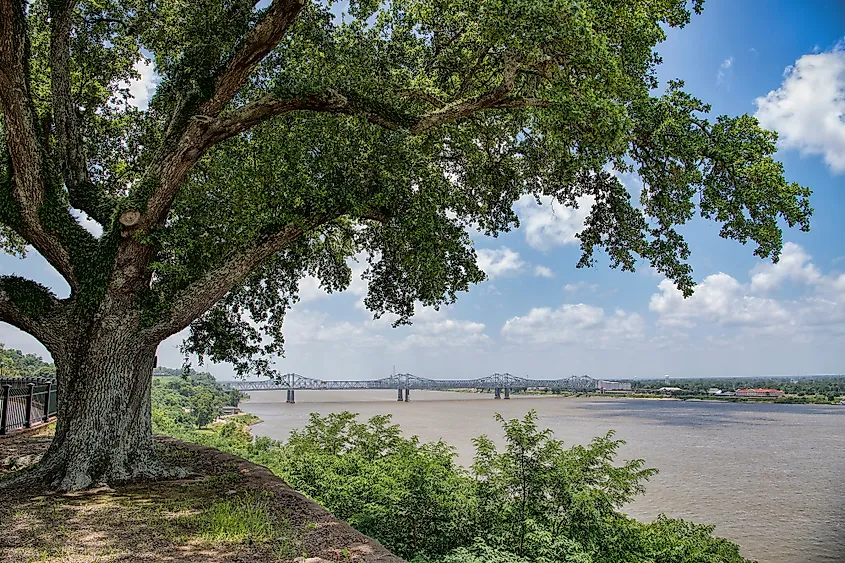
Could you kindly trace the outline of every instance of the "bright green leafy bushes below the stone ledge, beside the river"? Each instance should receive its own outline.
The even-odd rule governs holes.
[[[469,469],[389,416],[312,414],[286,443],[252,440],[235,422],[182,437],[270,468],[413,563],[748,563],[712,526],[619,512],[656,470],[617,463],[612,432],[567,448],[533,411],[498,420],[504,448],[477,438]]]

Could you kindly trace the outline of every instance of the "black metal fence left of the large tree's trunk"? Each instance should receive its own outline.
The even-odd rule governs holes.
[[[55,414],[54,379],[0,379],[0,434],[32,428]]]

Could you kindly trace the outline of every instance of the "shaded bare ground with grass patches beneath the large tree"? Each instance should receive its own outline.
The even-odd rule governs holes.
[[[49,429],[0,438],[0,474],[35,463],[50,439]],[[0,491],[0,563],[403,563],[264,467],[171,438],[157,447],[192,476]]]

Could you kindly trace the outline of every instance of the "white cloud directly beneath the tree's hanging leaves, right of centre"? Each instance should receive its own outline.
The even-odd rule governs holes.
[[[528,244],[539,250],[577,244],[575,235],[584,228],[584,220],[590,213],[595,198],[578,198],[578,209],[561,205],[550,196],[543,196],[540,201],[542,205],[537,205],[534,196],[524,195],[515,205],[521,223],[520,230],[525,233]]]

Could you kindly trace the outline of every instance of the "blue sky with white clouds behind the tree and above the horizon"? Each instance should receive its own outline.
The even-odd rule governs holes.
[[[552,216],[522,201],[522,228],[474,237],[491,279],[454,306],[420,311],[411,327],[374,322],[360,279],[332,296],[303,280],[277,369],[326,379],[380,377],[393,365],[425,377],[845,372],[845,4],[707,0],[704,14],[673,30],[659,52],[661,80],[684,79],[714,114],[756,114],[779,131],[788,177],[813,189],[811,232],[787,231],[778,265],[696,221],[684,232],[699,287],[684,301],[648,267],[623,273],[600,261],[576,270],[573,235],[586,207]],[[145,84],[135,88],[143,98]],[[636,190],[636,178],[622,180]],[[66,292],[34,255],[0,256],[0,271]],[[160,364],[180,364],[179,340],[162,344]],[[8,325],[0,324],[0,342],[46,356]],[[205,367],[231,374],[227,365]]]

